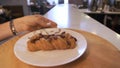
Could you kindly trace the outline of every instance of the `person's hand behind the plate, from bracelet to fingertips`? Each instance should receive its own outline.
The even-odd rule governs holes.
[[[17,32],[33,31],[41,28],[54,28],[57,24],[41,15],[29,15],[14,19]]]

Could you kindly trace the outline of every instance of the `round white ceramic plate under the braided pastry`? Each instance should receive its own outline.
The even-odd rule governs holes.
[[[44,29],[49,34],[58,31],[58,28],[49,28]],[[44,30],[37,30],[35,33],[45,33]],[[14,46],[15,56],[23,61],[24,63],[34,65],[34,66],[58,66],[63,65],[69,62],[72,62],[79,58],[87,48],[87,42],[83,35],[72,30],[61,29],[70,33],[77,39],[77,47],[74,49],[67,50],[52,50],[52,51],[37,51],[30,52],[27,49],[28,38],[34,35],[34,32],[31,32],[23,37],[21,37]]]

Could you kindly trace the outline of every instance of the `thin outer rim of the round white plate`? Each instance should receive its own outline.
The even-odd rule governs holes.
[[[73,30],[70,30],[70,29],[64,29],[64,28],[46,28],[46,29],[61,29],[61,30],[63,30],[63,31],[72,31],[72,32],[76,32],[76,31],[73,31]],[[40,29],[40,30],[42,30],[42,29]],[[33,33],[34,31],[32,31],[32,32],[30,32],[30,33]],[[30,34],[30,33],[28,33],[28,34]],[[76,32],[76,33],[78,33],[78,32]],[[26,35],[24,35],[24,36],[22,36],[21,38],[24,38],[25,36],[27,36],[28,34],[26,34]],[[86,38],[81,34],[81,33],[79,33],[83,38],[84,38],[84,41],[86,42],[85,44],[85,48],[84,48],[84,51],[82,51],[82,53],[81,54],[79,54],[77,57],[75,57],[74,59],[72,59],[72,60],[70,60],[70,61],[67,61],[67,62],[64,62],[64,63],[61,63],[61,64],[55,64],[55,65],[38,65],[38,64],[32,64],[32,63],[29,63],[29,62],[27,62],[27,61],[24,61],[23,59],[21,59],[18,55],[17,55],[17,53],[16,53],[16,51],[15,51],[15,46],[16,46],[16,43],[21,39],[21,38],[19,38],[17,41],[16,41],[16,43],[14,44],[14,54],[15,54],[15,56],[20,60],[20,61],[22,61],[22,62],[24,62],[24,63],[26,63],[26,64],[29,64],[29,65],[33,65],[33,66],[41,66],[41,67],[53,67],[53,66],[59,66],[59,65],[64,65],[64,64],[67,64],[67,63],[70,63],[70,62],[72,62],[72,61],[75,61],[76,59],[78,59],[79,57],[81,57],[84,53],[85,53],[85,51],[86,51],[86,49],[87,49],[87,40],[86,40]]]

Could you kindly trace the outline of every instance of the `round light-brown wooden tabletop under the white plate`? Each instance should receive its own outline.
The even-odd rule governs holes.
[[[86,38],[86,52],[71,63],[49,68],[120,68],[120,51],[110,42],[85,31],[74,31]],[[20,37],[16,36],[0,45],[0,68],[44,68],[25,64],[16,58],[13,48]]]

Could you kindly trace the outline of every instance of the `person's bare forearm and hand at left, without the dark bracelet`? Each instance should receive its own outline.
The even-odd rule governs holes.
[[[29,15],[13,20],[14,27],[16,31],[33,31],[41,28],[52,28],[57,27],[57,24],[51,20],[44,18],[41,15]],[[13,36],[10,29],[10,22],[0,24],[0,40]]]

